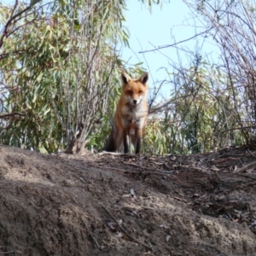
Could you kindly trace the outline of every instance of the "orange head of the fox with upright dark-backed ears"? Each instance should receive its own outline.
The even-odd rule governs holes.
[[[122,96],[131,106],[137,106],[143,100],[147,100],[148,96],[148,73],[145,72],[139,79],[131,79],[127,73],[121,74],[123,82]]]

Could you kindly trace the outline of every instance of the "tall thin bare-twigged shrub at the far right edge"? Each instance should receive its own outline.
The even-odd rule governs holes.
[[[202,35],[221,52],[219,67],[229,78],[236,123],[246,143],[256,140],[255,0],[183,0],[200,22]],[[239,92],[239,95],[236,95]]]

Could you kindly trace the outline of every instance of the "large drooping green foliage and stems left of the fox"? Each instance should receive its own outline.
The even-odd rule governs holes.
[[[79,152],[98,129],[127,41],[123,1],[59,1],[0,6],[1,141]],[[26,10],[22,13],[22,10]],[[21,15],[19,15],[21,13]]]

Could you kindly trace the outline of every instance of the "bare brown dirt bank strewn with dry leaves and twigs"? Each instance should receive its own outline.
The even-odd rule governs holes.
[[[0,254],[255,255],[256,148],[48,155],[0,146]]]

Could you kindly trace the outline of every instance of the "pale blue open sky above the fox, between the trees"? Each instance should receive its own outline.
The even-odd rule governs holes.
[[[165,1],[163,1],[165,2]],[[166,1],[167,2],[167,1]],[[189,54],[169,47],[160,51],[139,53],[154,49],[162,45],[173,44],[191,38],[202,29],[195,30],[195,19],[191,11],[181,0],[170,0],[171,3],[163,3],[162,6],[154,4],[149,12],[147,6],[138,0],[127,0],[125,11],[125,26],[130,32],[130,49],[123,47],[122,58],[129,63],[135,64],[143,61],[143,67],[149,72],[151,85],[158,84],[158,81],[167,79],[166,69],[172,72],[172,63],[182,61],[183,65],[189,65]],[[209,39],[207,39],[209,40]],[[201,54],[207,54],[209,58],[218,58],[218,49],[211,41],[199,38],[189,40],[186,43],[178,44],[183,49],[193,50],[202,46]],[[171,84],[166,84],[162,90],[162,96],[169,96]]]

